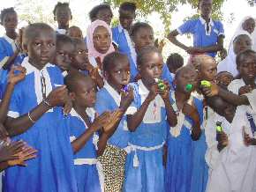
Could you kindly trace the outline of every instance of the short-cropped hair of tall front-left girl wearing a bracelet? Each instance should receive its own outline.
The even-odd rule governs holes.
[[[56,34],[53,28],[45,23],[34,23],[34,24],[30,24],[29,26],[26,26],[25,28],[26,43],[28,40],[31,40],[37,37],[39,33],[41,33],[41,31],[47,31],[47,30],[49,30],[49,32]]]

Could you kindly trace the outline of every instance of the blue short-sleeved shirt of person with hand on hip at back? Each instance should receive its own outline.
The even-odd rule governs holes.
[[[204,18],[190,19],[182,26],[177,28],[177,32],[180,34],[192,33],[193,35],[193,47],[203,48],[207,46],[213,46],[217,43],[219,36],[224,36],[224,29],[221,21],[216,21],[211,18],[208,24],[207,31],[207,22]],[[217,53],[207,53],[215,57]]]

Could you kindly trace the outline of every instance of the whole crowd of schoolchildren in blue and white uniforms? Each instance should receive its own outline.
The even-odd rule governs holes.
[[[16,11],[1,11],[3,191],[256,191],[256,53],[237,34],[238,75],[218,73],[224,33],[212,4],[201,0],[200,18],[169,33],[191,54],[185,66],[178,54],[163,61],[152,26],[132,24],[133,3],[112,29],[109,5],[94,7],[85,38],[67,3],[53,11],[56,30],[34,23],[18,34]]]

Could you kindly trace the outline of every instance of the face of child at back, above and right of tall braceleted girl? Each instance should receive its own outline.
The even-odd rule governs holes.
[[[72,13],[67,6],[61,6],[56,9],[56,21],[59,26],[69,26],[72,19]]]

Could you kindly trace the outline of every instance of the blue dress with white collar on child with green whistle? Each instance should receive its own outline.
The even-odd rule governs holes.
[[[188,101],[194,103],[200,113],[200,100],[192,98]],[[177,111],[174,92],[171,95],[172,107]],[[169,129],[168,156],[165,170],[165,189],[168,192],[188,192],[192,181],[192,119],[180,113],[177,116],[177,126]],[[196,191],[196,190],[194,190]]]

